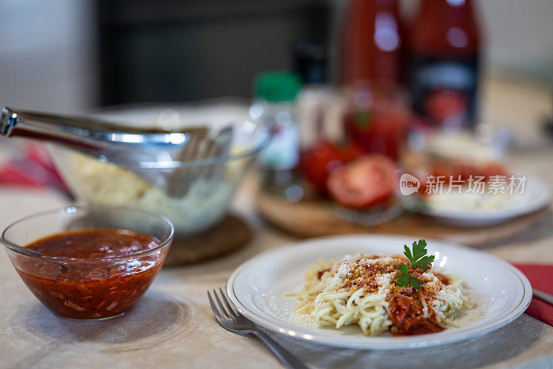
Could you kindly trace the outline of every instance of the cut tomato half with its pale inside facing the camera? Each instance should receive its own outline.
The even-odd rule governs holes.
[[[386,201],[396,186],[395,165],[383,155],[366,155],[328,177],[328,190],[346,208],[369,208]]]

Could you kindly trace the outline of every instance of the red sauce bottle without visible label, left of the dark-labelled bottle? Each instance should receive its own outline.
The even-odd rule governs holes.
[[[397,0],[352,0],[344,19],[341,80],[350,87],[389,87],[402,75]]]

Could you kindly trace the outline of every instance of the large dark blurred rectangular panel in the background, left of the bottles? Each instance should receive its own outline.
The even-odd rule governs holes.
[[[100,103],[252,94],[266,69],[292,69],[294,44],[328,38],[321,0],[98,1]]]

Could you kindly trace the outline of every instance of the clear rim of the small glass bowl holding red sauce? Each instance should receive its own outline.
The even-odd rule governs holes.
[[[12,228],[12,226],[15,226],[21,222],[25,222],[29,219],[37,218],[37,217],[43,217],[44,215],[53,215],[53,214],[64,214],[64,213],[77,213],[80,211],[86,211],[86,210],[107,210],[107,211],[122,211],[127,213],[142,213],[143,215],[149,215],[150,217],[154,217],[158,220],[161,220],[162,222],[165,222],[171,227],[171,231],[169,233],[169,236],[167,237],[167,240],[164,240],[161,242],[158,246],[153,247],[152,249],[148,249],[145,251],[140,251],[138,253],[132,253],[129,255],[115,255],[115,256],[106,256],[106,257],[99,257],[99,258],[67,258],[65,256],[50,256],[45,255],[44,253],[39,253],[38,251],[34,251],[31,249],[27,249],[25,246],[21,246],[19,244],[16,244],[15,242],[10,242],[6,239],[6,233]],[[131,259],[137,259],[142,258],[144,256],[151,255],[153,253],[156,253],[156,251],[163,249],[165,246],[170,244],[173,241],[173,237],[175,235],[175,226],[171,221],[158,213],[154,213],[153,211],[149,210],[143,210],[140,208],[131,208],[126,206],[98,206],[98,205],[71,205],[71,206],[63,206],[61,208],[55,208],[51,210],[44,210],[39,213],[33,213],[31,215],[27,215],[26,217],[19,218],[15,220],[15,222],[10,223],[6,228],[3,230],[1,235],[1,242],[6,246],[7,249],[10,249],[11,251],[18,253],[19,255],[25,255],[32,258],[41,258],[43,260],[51,260],[56,262],[110,262],[110,261],[120,261],[120,260],[131,260]]]

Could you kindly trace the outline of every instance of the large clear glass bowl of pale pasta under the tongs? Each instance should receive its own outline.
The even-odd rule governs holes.
[[[93,157],[66,147],[50,147],[59,172],[78,201],[160,213],[171,219],[177,237],[204,231],[223,218],[238,183],[270,139],[269,127],[250,118],[245,103],[227,100],[120,107],[95,116],[133,127],[205,127],[206,139],[231,127],[229,147],[220,156],[197,159],[189,155],[191,159],[171,158],[160,161],[160,165],[138,163],[135,168],[115,165],[101,155]],[[171,193],[164,186],[156,186],[156,179],[171,187]]]

